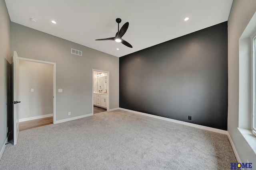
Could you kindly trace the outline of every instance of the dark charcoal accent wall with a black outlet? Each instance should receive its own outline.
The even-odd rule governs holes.
[[[119,106],[227,130],[227,38],[224,22],[120,57]]]

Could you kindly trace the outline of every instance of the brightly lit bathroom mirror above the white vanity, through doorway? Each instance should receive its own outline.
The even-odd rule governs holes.
[[[107,77],[108,77],[108,73],[106,72],[94,71],[94,81],[93,81],[94,92],[100,92],[100,93],[108,92]]]

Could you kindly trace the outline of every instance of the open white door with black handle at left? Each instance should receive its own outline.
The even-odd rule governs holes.
[[[16,51],[12,57],[12,73],[13,73],[13,145],[17,144],[19,135],[19,58]]]

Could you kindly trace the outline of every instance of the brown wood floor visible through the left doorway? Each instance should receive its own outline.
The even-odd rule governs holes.
[[[35,120],[30,120],[30,121],[23,121],[20,122],[20,131],[24,131],[27,129],[32,129],[35,127],[40,127],[44,125],[50,125],[52,124],[52,116],[51,117],[44,117],[41,119],[35,119]]]

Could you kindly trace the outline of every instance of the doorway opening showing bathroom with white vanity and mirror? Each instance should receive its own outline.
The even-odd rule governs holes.
[[[109,109],[109,72],[92,69],[92,111],[94,114]]]

